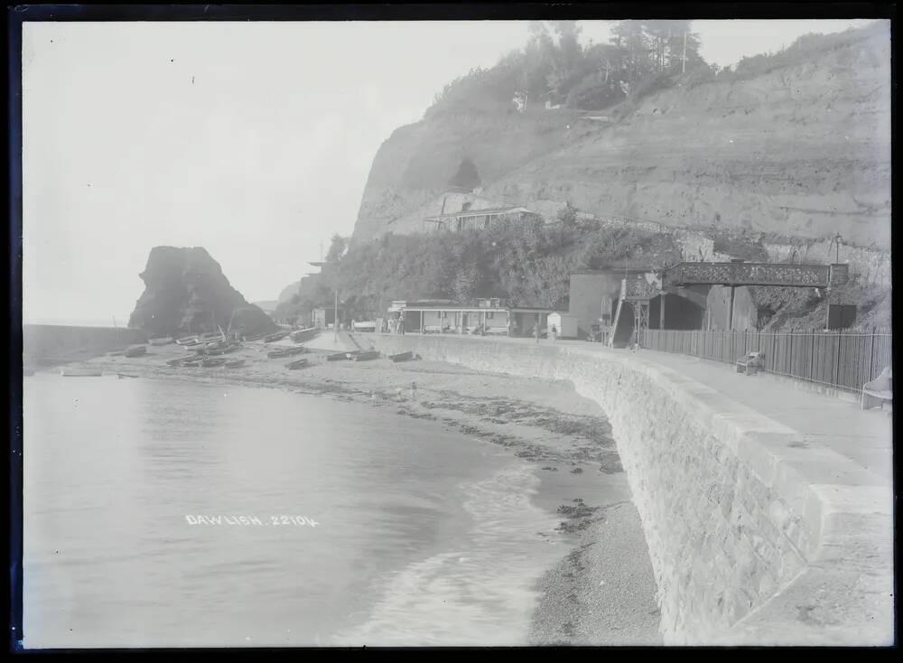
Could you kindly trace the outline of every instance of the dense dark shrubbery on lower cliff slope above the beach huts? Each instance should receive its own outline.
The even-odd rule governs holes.
[[[395,299],[467,303],[497,296],[513,304],[566,309],[573,270],[625,259],[663,266],[669,250],[675,252],[669,236],[577,219],[551,225],[507,219],[486,230],[387,235],[356,243],[339,263],[324,266],[318,288],[302,291],[298,311],[329,305],[336,289],[349,316],[358,319],[385,314]],[[290,306],[281,304],[277,314],[294,310]]]

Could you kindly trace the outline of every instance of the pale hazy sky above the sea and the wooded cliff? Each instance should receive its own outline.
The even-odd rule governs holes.
[[[696,21],[726,66],[868,21]],[[583,42],[610,23],[581,21]],[[126,323],[154,246],[205,247],[249,302],[354,228],[398,126],[527,23],[23,23],[23,321]]]

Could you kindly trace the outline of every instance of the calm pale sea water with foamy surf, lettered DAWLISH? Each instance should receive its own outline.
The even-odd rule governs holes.
[[[39,373],[23,429],[27,648],[523,644],[567,552],[534,466],[391,408]]]

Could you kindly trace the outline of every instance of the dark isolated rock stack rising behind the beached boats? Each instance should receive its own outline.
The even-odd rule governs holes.
[[[201,247],[154,247],[140,275],[144,294],[128,326],[150,335],[226,330],[257,333],[276,325],[228,283],[219,263]]]

